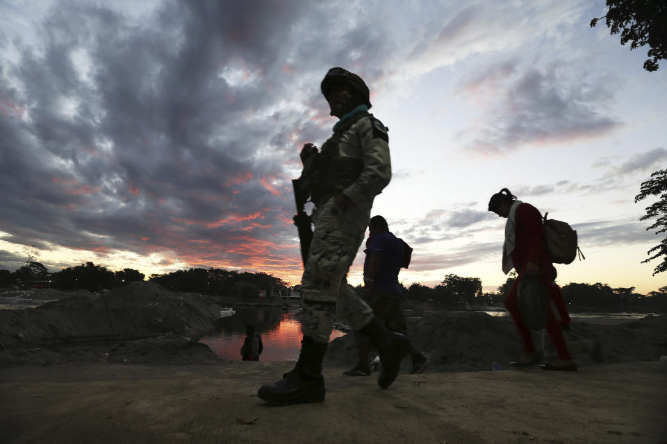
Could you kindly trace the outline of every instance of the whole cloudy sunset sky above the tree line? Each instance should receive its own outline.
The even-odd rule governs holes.
[[[667,62],[641,67],[604,1],[0,3],[0,268],[218,267],[296,284],[290,179],[336,118],[329,67],[360,74],[389,128],[374,214],[415,248],[404,284],[502,284],[508,187],[573,224],[560,284],[646,293],[661,239],[641,182],[667,167]],[[349,280],[361,277],[361,255]],[[664,273],[663,273],[664,274]]]

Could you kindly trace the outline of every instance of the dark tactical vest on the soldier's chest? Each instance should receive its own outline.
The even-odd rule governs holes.
[[[358,114],[343,123],[334,135],[327,139],[322,145],[322,150],[317,155],[311,155],[304,164],[302,177],[304,185],[311,194],[311,200],[318,207],[324,204],[331,196],[343,191],[359,178],[363,170],[363,161],[351,157],[340,157],[340,137],[354,123],[368,117],[368,112]]]

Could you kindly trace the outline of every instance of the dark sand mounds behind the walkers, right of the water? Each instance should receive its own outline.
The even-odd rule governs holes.
[[[440,311],[424,318],[409,318],[409,336],[429,356],[438,371],[490,370],[491,363],[505,367],[520,352],[519,334],[509,317],[493,317],[474,311]],[[575,361],[593,364],[593,343],[598,341],[604,363],[654,361],[667,355],[667,316],[647,316],[621,325],[573,323],[566,333]],[[541,333],[534,333],[541,346]],[[325,364],[356,362],[352,334],[329,343]],[[409,359],[404,360],[405,369]]]

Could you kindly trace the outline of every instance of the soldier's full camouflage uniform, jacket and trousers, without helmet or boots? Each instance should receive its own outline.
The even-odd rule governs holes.
[[[312,191],[315,232],[302,279],[302,330],[318,343],[329,341],[339,299],[341,315],[354,330],[373,318],[346,275],[363,241],[373,200],[391,178],[387,129],[379,120],[364,111],[334,128],[319,155],[320,176],[311,180],[320,189]],[[334,202],[337,192],[352,200],[345,212]]]

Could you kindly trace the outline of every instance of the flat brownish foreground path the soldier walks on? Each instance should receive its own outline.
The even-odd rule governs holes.
[[[375,377],[270,407],[287,362],[0,368],[3,443],[667,443],[667,362]]]

